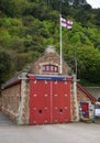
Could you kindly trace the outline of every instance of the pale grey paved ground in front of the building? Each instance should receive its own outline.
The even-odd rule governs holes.
[[[18,127],[0,112],[0,143],[100,143],[100,124]]]

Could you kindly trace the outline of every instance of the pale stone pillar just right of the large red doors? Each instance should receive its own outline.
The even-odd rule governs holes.
[[[75,99],[75,108],[76,108],[76,121],[79,121],[79,105],[77,100],[77,76],[73,75],[74,78],[74,99]]]

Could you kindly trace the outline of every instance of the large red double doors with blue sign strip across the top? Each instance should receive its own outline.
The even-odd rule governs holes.
[[[70,80],[30,77],[30,124],[70,122]]]

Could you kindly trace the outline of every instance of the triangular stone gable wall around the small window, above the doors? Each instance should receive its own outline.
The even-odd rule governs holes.
[[[42,70],[43,65],[55,65],[58,67],[58,73],[44,73]],[[63,73],[62,75],[69,75],[70,74],[70,67],[63,61]],[[60,74],[60,58],[59,55],[55,52],[53,47],[46,48],[45,53],[35,62],[33,65],[31,65],[29,73],[37,74],[37,75],[45,75],[45,74],[52,74],[52,75],[59,75]]]

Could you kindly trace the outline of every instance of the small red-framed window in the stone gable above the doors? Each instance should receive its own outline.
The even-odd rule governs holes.
[[[58,73],[58,67],[55,65],[43,65],[42,69],[45,73]]]

